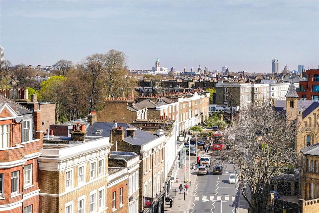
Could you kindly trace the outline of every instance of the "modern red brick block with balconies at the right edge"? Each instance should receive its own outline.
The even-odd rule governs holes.
[[[299,81],[297,93],[304,100],[319,101],[319,70],[306,70],[306,77]]]

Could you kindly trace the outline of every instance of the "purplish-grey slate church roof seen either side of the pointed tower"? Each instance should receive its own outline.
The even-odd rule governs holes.
[[[302,109],[302,118],[307,117],[311,112],[313,112],[317,107],[319,107],[319,101],[297,101],[298,109]],[[285,111],[286,101],[278,100],[275,101],[275,110]]]

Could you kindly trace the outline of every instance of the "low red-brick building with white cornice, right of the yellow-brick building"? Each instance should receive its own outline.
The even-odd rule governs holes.
[[[108,177],[108,189],[110,189],[108,191],[108,195],[110,195],[108,203],[111,204],[109,206],[113,207],[114,204],[116,208],[116,206],[122,204],[124,208],[121,212],[138,212],[138,171],[140,162],[139,156],[134,152],[112,151],[108,159],[110,173]],[[123,185],[124,182],[125,185]],[[113,201],[113,197],[115,197],[115,201]],[[125,197],[125,201],[123,197]]]

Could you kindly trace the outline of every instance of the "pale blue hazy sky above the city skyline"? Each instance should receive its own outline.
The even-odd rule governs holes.
[[[319,1],[0,1],[12,64],[74,62],[109,49],[130,69],[318,69]]]

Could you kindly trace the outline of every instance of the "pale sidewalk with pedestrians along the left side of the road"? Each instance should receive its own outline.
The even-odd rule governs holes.
[[[201,152],[200,152],[201,153]],[[200,154],[201,155],[201,154]],[[190,167],[195,164],[196,159],[190,159]],[[186,164],[188,165],[188,156],[186,157]],[[165,203],[165,208],[164,211],[167,212],[184,212],[189,210],[193,204],[191,202],[192,200],[192,195],[195,193],[194,190],[196,188],[196,180],[197,180],[197,171],[196,170],[188,170],[186,171],[186,179],[188,179],[189,172],[190,172],[190,178],[188,182],[189,188],[188,188],[188,194],[185,195],[185,200],[184,200],[184,180],[185,180],[185,171],[180,169],[177,172],[176,178],[179,178],[178,183],[173,183],[173,186],[170,189],[170,195],[173,195],[173,205],[172,208],[167,208],[167,202]],[[183,185],[183,191],[182,194],[179,193],[179,186],[180,184]],[[176,195],[174,194],[174,191],[176,191]],[[172,192],[172,193],[171,193]],[[175,195],[175,196],[174,196]],[[169,207],[169,205],[168,205]]]

